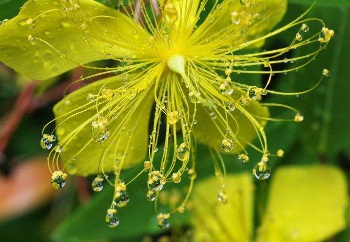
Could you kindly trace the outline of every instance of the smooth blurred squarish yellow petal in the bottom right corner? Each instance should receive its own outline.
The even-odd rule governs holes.
[[[258,241],[321,241],[346,226],[347,184],[332,166],[287,166],[271,177]]]

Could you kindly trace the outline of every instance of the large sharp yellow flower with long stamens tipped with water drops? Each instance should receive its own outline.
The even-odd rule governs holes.
[[[300,21],[305,13],[268,33],[285,10],[286,1],[280,0],[224,0],[213,6],[199,0],[121,1],[117,10],[92,0],[28,1],[17,17],[0,25],[2,62],[33,79],[57,76],[77,65],[102,71],[77,82],[105,77],[65,96],[53,109],[56,127],[50,134],[44,132],[47,125],[44,127],[41,147],[51,148],[56,139],[53,132],[58,137],[48,156],[52,185],[63,187],[67,176],[63,172],[97,173],[93,190],[103,188],[103,179],[115,187],[106,217],[108,225],[115,226],[114,206],[126,205],[126,187],[143,171],[148,172],[145,184],[150,201],[167,182],[178,183],[188,173],[190,189],[178,205],[183,211],[196,177],[197,140],[208,145],[221,186],[226,171],[220,152],[238,154],[247,162],[247,145],[262,154],[260,161],[254,161],[253,174],[266,179],[270,174],[268,156],[277,151],[267,149],[263,127],[267,120],[279,120],[269,118],[266,106],[290,109],[295,118],[289,120],[296,122],[302,116],[292,107],[258,100],[267,93],[298,95],[317,86],[322,78],[302,92],[267,89],[272,74],[305,66],[334,35],[320,20]],[[302,41],[303,32],[309,29],[304,22],[311,21],[319,22],[323,29],[305,34]],[[285,48],[242,54],[243,49],[260,47],[268,37],[295,26],[299,29]],[[318,41],[322,38],[324,41]],[[275,59],[305,46],[310,50],[308,56]],[[116,66],[100,67],[94,62],[99,60],[110,60]],[[299,64],[283,71],[274,71],[271,66],[296,60]],[[253,73],[269,74],[266,85],[245,83],[244,74]],[[251,143],[256,136],[260,148]],[[161,151],[158,143],[164,143]],[[157,160],[156,152],[162,152]],[[124,183],[121,170],[142,161],[143,169]],[[111,171],[115,174],[112,179],[105,175]],[[220,192],[225,202],[225,193]],[[177,209],[170,213],[174,211]],[[168,213],[164,214],[159,214],[162,228],[166,226],[161,223],[168,218]]]

